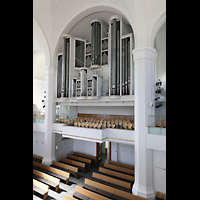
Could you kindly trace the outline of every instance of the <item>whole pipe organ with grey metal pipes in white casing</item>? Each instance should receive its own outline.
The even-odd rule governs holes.
[[[57,98],[134,94],[134,36],[122,17],[91,22],[90,41],[67,35],[57,57]]]

